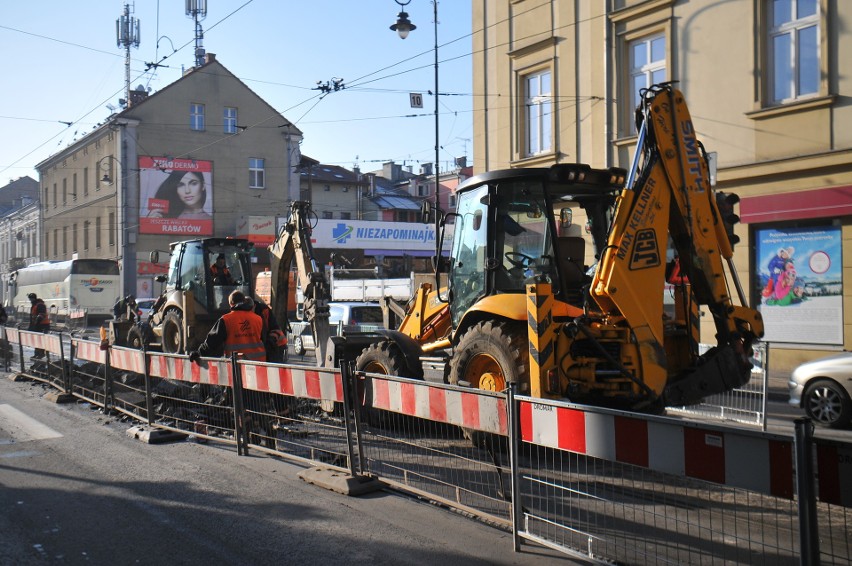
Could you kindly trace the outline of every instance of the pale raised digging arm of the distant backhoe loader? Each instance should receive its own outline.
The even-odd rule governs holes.
[[[305,318],[311,325],[319,364],[325,360],[326,346],[331,335],[328,322],[331,289],[325,271],[317,264],[311,246],[311,205],[304,201],[293,202],[290,216],[278,236],[269,246],[272,312],[278,321],[289,326],[287,303],[290,296],[290,268],[293,259],[299,281],[303,286]]]

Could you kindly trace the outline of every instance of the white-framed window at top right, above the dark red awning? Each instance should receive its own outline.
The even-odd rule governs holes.
[[[769,0],[770,101],[795,100],[820,88],[817,0]]]

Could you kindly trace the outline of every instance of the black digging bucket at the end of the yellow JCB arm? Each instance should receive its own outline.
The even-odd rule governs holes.
[[[711,348],[698,358],[696,366],[666,387],[666,406],[694,405],[708,395],[745,385],[751,378],[751,368],[751,362],[733,346]]]

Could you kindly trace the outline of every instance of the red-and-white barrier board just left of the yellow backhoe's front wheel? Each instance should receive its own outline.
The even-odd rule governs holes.
[[[255,365],[248,362],[240,362],[240,371],[245,389],[343,402],[343,379],[339,371]]]

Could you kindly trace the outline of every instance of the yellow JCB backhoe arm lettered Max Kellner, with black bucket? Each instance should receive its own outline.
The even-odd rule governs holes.
[[[668,84],[652,87],[637,115],[636,160],[591,295],[612,324],[630,328],[645,385],[667,405],[690,404],[749,379],[751,345],[763,336],[763,323],[745,305],[725,218],[682,93]],[[688,348],[688,355],[672,356],[666,343],[662,282],[669,241],[688,281],[689,306],[681,313],[681,333],[688,339],[676,347]],[[741,305],[732,300],[725,265]],[[708,308],[716,326],[717,345],[703,355],[699,305]]]

